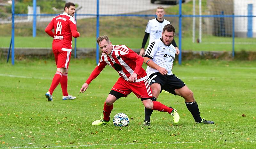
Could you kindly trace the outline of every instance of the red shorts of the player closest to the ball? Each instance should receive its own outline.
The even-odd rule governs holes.
[[[140,82],[129,82],[118,78],[111,90],[124,94],[123,97],[133,92],[138,98],[152,98],[152,91],[146,79]]]

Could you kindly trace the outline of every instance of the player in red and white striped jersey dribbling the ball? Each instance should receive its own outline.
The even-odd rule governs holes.
[[[118,72],[120,78],[116,81],[104,103],[104,117],[92,122],[92,125],[108,124],[114,102],[120,97],[126,97],[131,92],[141,99],[145,108],[167,112],[172,116],[174,123],[179,122],[180,116],[176,109],[169,108],[158,101],[151,100],[151,88],[146,80],[147,73],[141,67],[143,63],[143,58],[141,56],[125,45],[112,45],[108,36],[100,36],[97,39],[97,43],[100,50],[103,52],[100,62],[80,89],[80,93],[86,91],[92,80],[100,74],[106,65],[114,68]]]

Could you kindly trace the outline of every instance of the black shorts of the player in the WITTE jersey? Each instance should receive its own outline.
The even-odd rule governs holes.
[[[162,92],[162,90],[165,90],[174,95],[176,95],[174,91],[175,89],[182,88],[183,86],[186,85],[183,81],[181,81],[180,78],[176,77],[174,74],[162,75],[160,72],[155,72],[151,74],[148,77],[148,82],[149,82],[149,85],[153,83],[160,84],[161,85],[160,93]]]

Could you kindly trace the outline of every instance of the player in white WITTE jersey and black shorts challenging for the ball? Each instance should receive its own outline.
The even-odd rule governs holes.
[[[152,41],[144,55],[144,63],[148,65],[148,82],[152,89],[153,99],[156,101],[158,95],[164,89],[174,95],[184,98],[188,110],[195,119],[195,123],[213,124],[200,117],[198,105],[195,101],[193,92],[188,86],[172,73],[173,61],[176,49],[171,44],[174,38],[175,29],[172,25],[164,26],[162,38]],[[150,125],[150,115],[152,110],[145,109],[145,120],[143,125]]]

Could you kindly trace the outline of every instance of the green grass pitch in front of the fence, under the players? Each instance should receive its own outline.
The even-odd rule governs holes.
[[[94,60],[72,59],[68,91],[77,97],[61,100],[61,88],[46,102],[55,73],[53,60],[0,61],[0,148],[254,148],[256,146],[255,61],[194,60],[175,64],[173,72],[194,92],[201,116],[212,125],[194,124],[184,99],[161,93],[158,101],[176,108],[180,122],[155,111],[144,127],[144,108],[134,94],[120,98],[111,118],[123,112],[127,127],[92,126],[118,75],[108,66],[85,94],[79,89],[95,67]],[[242,116],[244,114],[244,116]],[[253,147],[254,146],[254,147]]]

